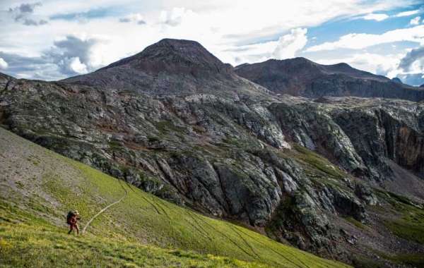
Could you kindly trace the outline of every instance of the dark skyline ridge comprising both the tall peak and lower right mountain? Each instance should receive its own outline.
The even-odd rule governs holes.
[[[167,73],[172,78],[162,80],[163,75],[160,73]],[[424,99],[422,87],[360,71],[347,63],[322,65],[298,57],[243,63],[233,68],[213,56],[199,42],[169,38],[161,39],[138,54],[110,63],[93,73],[65,78],[60,82],[115,89],[125,87],[126,90],[142,90],[160,95],[187,95],[194,92],[208,93],[211,88],[218,88],[219,84],[230,81],[232,87],[252,87],[239,77],[279,95],[309,98],[386,97],[413,101]],[[153,88],[149,86],[152,84]],[[177,87],[180,88],[177,90]],[[181,87],[189,90],[183,91]],[[201,90],[202,87],[204,90]]]

